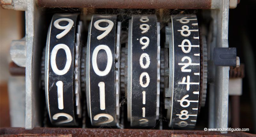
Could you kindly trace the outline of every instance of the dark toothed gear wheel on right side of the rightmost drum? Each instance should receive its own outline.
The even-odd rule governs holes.
[[[201,107],[205,106],[206,93],[207,93],[207,42],[205,36],[201,36],[201,78],[200,78],[200,91],[201,93]]]

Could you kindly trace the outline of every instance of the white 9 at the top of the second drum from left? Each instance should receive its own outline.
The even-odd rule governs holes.
[[[99,24],[100,24],[101,22],[107,22],[107,23],[108,23],[108,26],[105,27],[105,28],[100,27]],[[99,36],[97,37],[97,39],[100,40],[100,39],[106,37],[106,36],[108,35],[108,33],[112,30],[113,26],[114,26],[113,21],[108,20],[108,19],[100,19],[100,20],[95,21],[95,22],[94,22],[94,27],[95,27],[97,30],[105,31],[105,32],[103,32],[101,35],[99,35]]]

